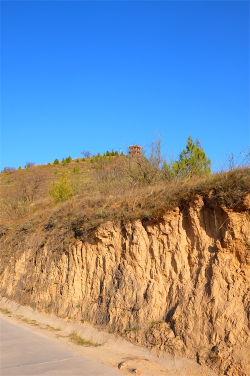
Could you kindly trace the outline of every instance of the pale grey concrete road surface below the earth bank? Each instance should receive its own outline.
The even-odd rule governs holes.
[[[117,376],[120,372],[89,360],[72,349],[0,314],[1,376]]]

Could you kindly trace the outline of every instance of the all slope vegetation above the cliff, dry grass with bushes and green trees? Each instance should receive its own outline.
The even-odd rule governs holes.
[[[99,154],[9,169],[0,174],[0,225],[3,233],[61,228],[77,237],[107,220],[161,217],[197,195],[239,207],[250,192],[249,172],[245,165],[211,174],[210,160],[190,137],[171,165],[156,139],[147,158]]]

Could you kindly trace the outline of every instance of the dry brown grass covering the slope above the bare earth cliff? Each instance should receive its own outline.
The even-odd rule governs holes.
[[[128,167],[131,166],[126,157],[106,157],[1,173],[2,232],[60,228],[64,235],[75,238],[107,220],[128,222],[161,217],[197,195],[212,197],[214,205],[240,207],[250,192],[249,167],[170,181],[160,171],[155,174],[154,169],[150,184],[131,178]],[[54,205],[49,189],[62,175],[70,183],[73,195]]]

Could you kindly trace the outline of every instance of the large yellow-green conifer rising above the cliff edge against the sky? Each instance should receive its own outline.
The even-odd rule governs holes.
[[[211,160],[206,157],[199,140],[194,143],[189,136],[185,149],[179,155],[179,160],[172,163],[172,169],[177,176],[183,177],[209,175],[211,173]]]

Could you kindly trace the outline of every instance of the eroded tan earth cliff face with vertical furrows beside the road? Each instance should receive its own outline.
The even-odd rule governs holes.
[[[45,244],[33,234],[1,267],[0,293],[247,375],[249,208],[249,196],[234,210],[199,197],[160,219],[106,223],[60,252],[53,230]]]

